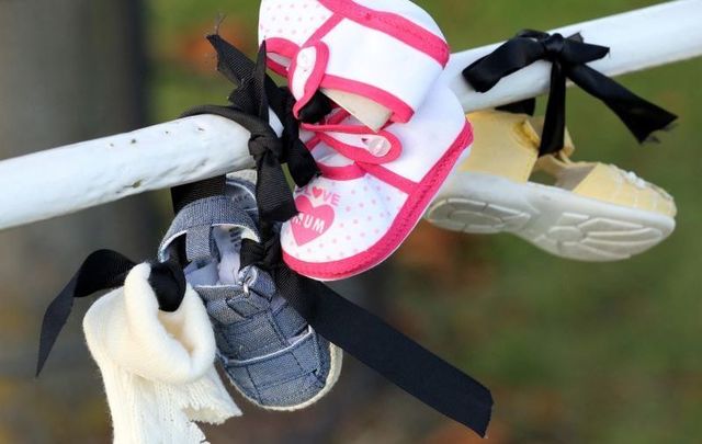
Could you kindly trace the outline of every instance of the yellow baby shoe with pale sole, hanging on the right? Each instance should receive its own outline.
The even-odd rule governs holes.
[[[564,148],[539,158],[543,119],[482,111],[468,115],[475,141],[426,218],[468,234],[511,232],[562,258],[604,262],[631,258],[676,227],[673,198],[632,172],[574,162]],[[535,171],[555,184],[530,182]]]

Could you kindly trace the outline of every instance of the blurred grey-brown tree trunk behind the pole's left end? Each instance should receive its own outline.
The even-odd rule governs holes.
[[[0,158],[145,124],[140,12],[138,0],[0,1]],[[44,308],[89,252],[154,252],[147,200],[0,232],[1,443],[109,440],[80,328],[89,304],[77,304],[37,382],[38,331]]]

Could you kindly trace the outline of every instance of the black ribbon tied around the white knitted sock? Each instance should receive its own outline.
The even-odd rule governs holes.
[[[46,308],[36,376],[39,376],[58,334],[68,321],[73,308],[73,299],[90,296],[97,292],[121,287],[129,271],[136,266],[128,258],[112,250],[98,250],[91,253],[80,265],[73,277]],[[178,310],[185,295],[185,276],[174,262],[152,263],[149,285],[156,293],[159,309],[173,312]]]

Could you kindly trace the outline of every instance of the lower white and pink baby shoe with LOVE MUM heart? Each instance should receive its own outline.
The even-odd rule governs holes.
[[[448,87],[437,83],[407,124],[374,133],[344,110],[303,125],[321,175],[295,191],[299,214],[283,225],[283,258],[321,281],[350,277],[387,259],[409,236],[473,129]]]

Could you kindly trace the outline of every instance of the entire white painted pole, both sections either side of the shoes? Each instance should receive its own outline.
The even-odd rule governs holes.
[[[679,0],[558,30],[580,32],[612,53],[592,67],[608,76],[702,55],[702,0]],[[539,95],[548,66],[534,64],[488,93],[465,84],[463,68],[497,45],[453,55],[444,73],[466,111]],[[11,68],[10,68],[11,69]],[[249,133],[225,118],[189,117],[133,133],[0,162],[0,229],[253,166]]]

